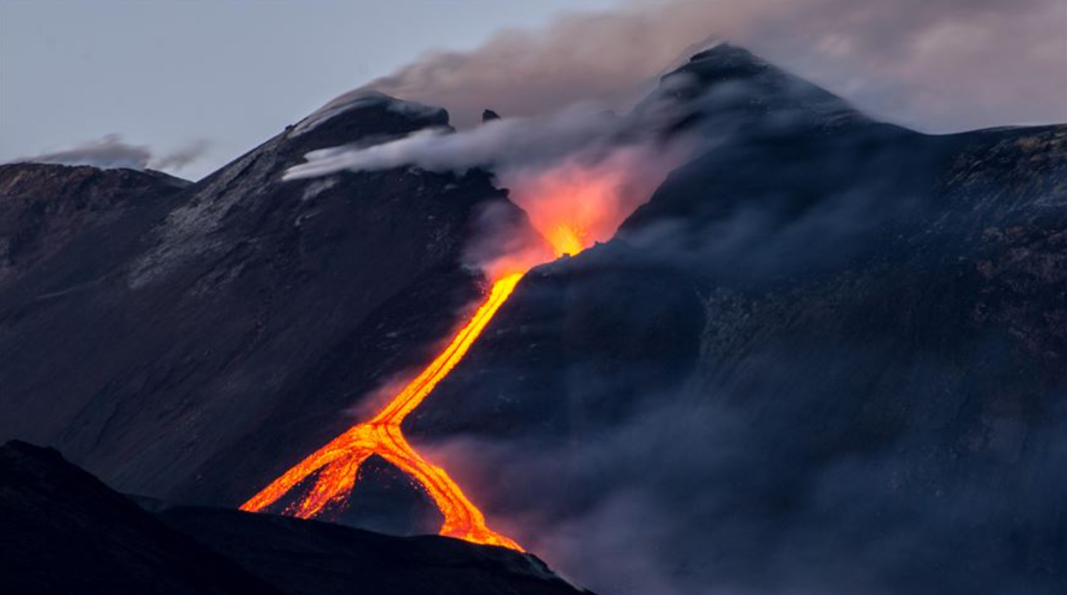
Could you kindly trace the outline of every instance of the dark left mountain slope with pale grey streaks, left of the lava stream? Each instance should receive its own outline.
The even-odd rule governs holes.
[[[385,97],[334,106],[69,242],[0,293],[0,436],[118,489],[242,502],[451,330],[481,282],[462,266],[476,218],[523,217],[478,172],[283,172],[446,124]]]

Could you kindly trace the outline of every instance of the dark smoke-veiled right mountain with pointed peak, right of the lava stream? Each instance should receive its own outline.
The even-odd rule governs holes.
[[[530,273],[413,439],[594,589],[1067,591],[1067,127],[920,135],[728,46],[679,75],[710,148]]]

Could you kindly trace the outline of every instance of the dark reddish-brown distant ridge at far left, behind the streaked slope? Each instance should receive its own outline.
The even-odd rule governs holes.
[[[0,289],[97,223],[189,184],[150,170],[0,165]]]

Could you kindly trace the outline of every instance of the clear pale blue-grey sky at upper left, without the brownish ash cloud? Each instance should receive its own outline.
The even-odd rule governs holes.
[[[0,0],[0,161],[210,141],[196,178],[431,48],[618,0]]]

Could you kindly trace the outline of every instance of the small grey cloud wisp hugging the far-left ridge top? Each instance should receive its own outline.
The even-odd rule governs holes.
[[[98,140],[71,148],[16,160],[63,166],[92,166],[100,169],[143,170],[152,168],[176,171],[200,159],[208,151],[208,147],[209,143],[202,139],[180,146],[173,152],[156,156],[147,146],[124,141],[121,135],[106,135]]]

